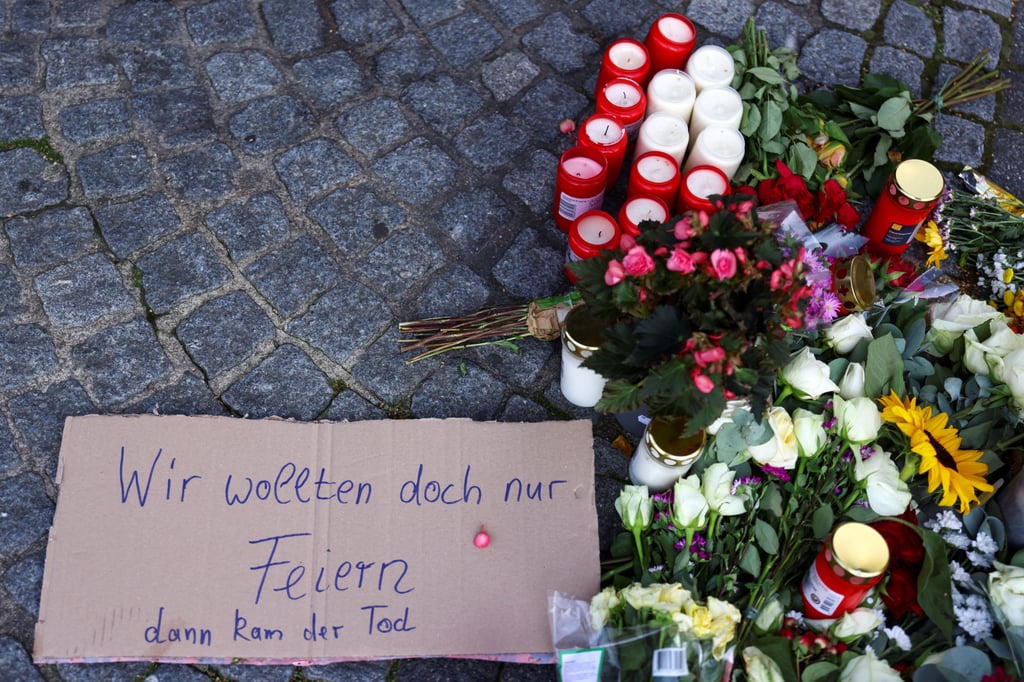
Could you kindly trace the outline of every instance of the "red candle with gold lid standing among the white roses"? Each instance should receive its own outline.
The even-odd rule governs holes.
[[[804,576],[804,613],[838,619],[855,609],[882,582],[889,566],[889,546],[882,534],[850,521],[833,530]]]

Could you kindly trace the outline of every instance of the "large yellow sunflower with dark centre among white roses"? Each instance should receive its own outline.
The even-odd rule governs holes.
[[[921,458],[918,472],[928,474],[928,492],[942,486],[939,504],[951,507],[959,500],[961,513],[978,503],[977,492],[991,493],[985,480],[988,465],[979,462],[980,450],[964,450],[959,432],[949,426],[949,416],[939,411],[932,415],[930,407],[918,406],[916,398],[900,399],[896,392],[880,398],[882,419],[894,424],[910,439],[910,451]]]

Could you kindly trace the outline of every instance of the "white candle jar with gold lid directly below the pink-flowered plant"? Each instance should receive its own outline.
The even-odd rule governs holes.
[[[701,430],[683,436],[685,428],[686,420],[682,418],[650,420],[630,459],[630,480],[635,485],[664,493],[686,475],[703,453],[707,434]]]

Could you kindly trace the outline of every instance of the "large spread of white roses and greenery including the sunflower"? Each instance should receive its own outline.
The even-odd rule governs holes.
[[[1024,439],[1024,336],[961,295],[904,297],[791,341],[765,419],[739,409],[712,425],[665,493],[624,487],[608,589],[734,606],[731,679],[1019,677],[1024,557],[992,494],[1019,467],[1004,456]],[[885,538],[885,578],[840,617],[809,617],[802,582],[847,520]]]

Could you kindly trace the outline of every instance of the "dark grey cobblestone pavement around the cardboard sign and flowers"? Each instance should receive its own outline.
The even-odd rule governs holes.
[[[0,0],[0,677],[285,682],[290,667],[31,662],[63,418],[592,418],[601,540],[627,461],[557,346],[409,366],[397,323],[567,289],[558,130],[604,47],[667,10],[755,16],[812,82],[928,93],[987,50],[1015,87],[937,122],[937,162],[1024,196],[1016,0]],[[40,140],[48,138],[52,148]],[[622,186],[608,199],[616,209]],[[617,195],[616,195],[617,193]],[[307,680],[551,680],[404,659]]]

